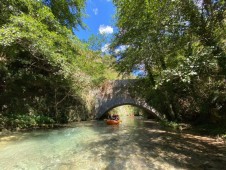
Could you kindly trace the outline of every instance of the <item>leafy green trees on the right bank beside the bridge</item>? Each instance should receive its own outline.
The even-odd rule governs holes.
[[[115,65],[122,74],[142,69],[137,95],[170,120],[224,122],[225,1],[113,2]]]

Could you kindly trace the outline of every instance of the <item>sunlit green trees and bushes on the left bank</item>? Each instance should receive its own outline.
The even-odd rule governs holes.
[[[81,11],[56,15],[57,7],[60,13],[67,4],[81,10],[83,2],[0,2],[5,16],[0,21],[0,113],[9,119],[5,126],[89,118],[83,94],[105,79],[109,65],[102,61],[108,59],[90,51],[67,28],[80,22]],[[68,16],[72,14],[75,18]]]

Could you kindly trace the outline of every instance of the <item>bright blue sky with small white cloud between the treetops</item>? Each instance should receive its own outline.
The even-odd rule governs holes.
[[[113,20],[115,7],[112,0],[87,0],[85,12],[88,16],[83,22],[87,28],[74,30],[79,39],[87,40],[92,34],[112,35],[115,32]]]

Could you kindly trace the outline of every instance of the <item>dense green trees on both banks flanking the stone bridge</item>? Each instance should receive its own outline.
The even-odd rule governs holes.
[[[167,120],[225,124],[225,1],[113,3],[103,55],[72,31],[85,28],[85,0],[0,1],[0,129],[92,119],[89,90],[116,71],[139,72],[135,95]]]

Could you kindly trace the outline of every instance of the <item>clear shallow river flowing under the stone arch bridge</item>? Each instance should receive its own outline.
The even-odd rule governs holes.
[[[126,117],[71,128],[36,130],[0,138],[1,170],[224,169],[225,145],[209,137],[163,129]]]

